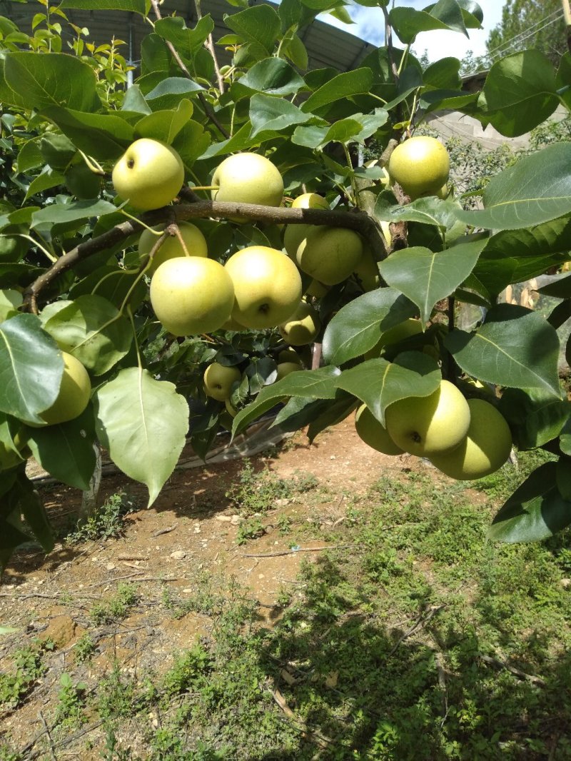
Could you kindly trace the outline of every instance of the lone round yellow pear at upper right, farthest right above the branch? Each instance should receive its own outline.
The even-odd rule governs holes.
[[[428,135],[401,142],[388,160],[388,174],[411,199],[432,196],[448,182],[450,158],[442,143]]]

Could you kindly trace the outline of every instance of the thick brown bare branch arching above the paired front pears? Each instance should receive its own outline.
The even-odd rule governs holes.
[[[181,193],[182,195],[182,193]],[[186,195],[186,193],[185,193]],[[153,212],[141,215],[141,220],[148,225],[164,222],[184,221],[187,219],[204,218],[247,218],[251,221],[278,224],[323,224],[334,228],[349,228],[367,238],[376,258],[384,259],[386,252],[382,244],[382,236],[376,221],[365,212],[337,212],[329,209],[285,209],[281,206],[261,206],[252,203],[233,203],[228,201],[197,201],[195,203],[180,203],[165,206]],[[72,269],[78,262],[94,256],[106,248],[111,248],[126,240],[132,234],[142,232],[143,224],[128,220],[116,224],[98,237],[85,240],[72,250],[69,250],[56,261],[53,266],[43,272],[35,280],[24,295],[24,307],[37,314],[38,295],[58,275]]]

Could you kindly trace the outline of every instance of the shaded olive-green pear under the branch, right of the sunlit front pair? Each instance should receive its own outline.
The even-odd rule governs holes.
[[[336,285],[355,272],[363,253],[361,237],[345,228],[311,228],[295,253],[299,269],[325,285]]]

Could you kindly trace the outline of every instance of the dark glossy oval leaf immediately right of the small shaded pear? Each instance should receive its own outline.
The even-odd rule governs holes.
[[[322,351],[328,365],[343,365],[372,349],[385,330],[417,314],[416,307],[393,288],[376,288],[341,307],[327,325]]]

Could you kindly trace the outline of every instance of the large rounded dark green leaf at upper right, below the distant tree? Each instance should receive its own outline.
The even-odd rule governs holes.
[[[553,65],[538,49],[496,61],[483,86],[486,119],[508,137],[529,132],[557,108]]]

